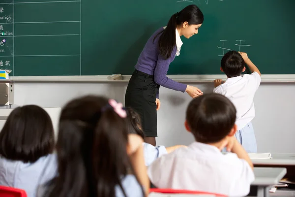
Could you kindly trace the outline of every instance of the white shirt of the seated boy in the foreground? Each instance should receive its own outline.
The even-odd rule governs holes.
[[[158,188],[204,191],[230,197],[249,194],[254,172],[236,154],[193,142],[163,155],[148,167],[148,176]]]

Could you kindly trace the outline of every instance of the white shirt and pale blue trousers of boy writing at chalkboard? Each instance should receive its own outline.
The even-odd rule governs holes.
[[[257,152],[257,144],[251,121],[255,117],[254,95],[260,85],[257,72],[228,78],[213,92],[230,99],[236,107],[236,139],[248,153]]]

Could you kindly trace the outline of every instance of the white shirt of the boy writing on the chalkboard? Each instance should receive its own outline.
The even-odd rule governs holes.
[[[213,92],[224,95],[236,107],[236,126],[243,129],[255,117],[254,95],[261,82],[257,72],[228,78],[223,84],[214,88]]]

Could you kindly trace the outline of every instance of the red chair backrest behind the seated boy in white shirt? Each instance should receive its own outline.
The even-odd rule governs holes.
[[[187,196],[192,195],[192,196],[204,196],[204,197],[226,197],[225,195],[220,195],[220,194],[214,194],[214,193],[209,193],[209,192],[202,192],[202,191],[189,191],[189,190],[173,190],[173,189],[158,189],[158,188],[151,188],[149,190],[149,197],[160,197],[160,195],[152,195],[152,194],[179,194],[183,195],[186,194]],[[162,195],[164,197],[164,195]]]

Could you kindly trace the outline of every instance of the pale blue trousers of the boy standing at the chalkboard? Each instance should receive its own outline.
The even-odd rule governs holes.
[[[237,130],[236,140],[242,145],[247,153],[257,153],[257,144],[252,123],[248,123],[243,129]],[[227,152],[226,148],[222,150]]]

